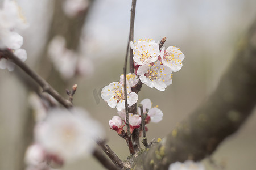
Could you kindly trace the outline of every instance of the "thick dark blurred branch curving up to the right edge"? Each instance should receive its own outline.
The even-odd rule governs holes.
[[[133,169],[168,169],[176,161],[197,161],[212,154],[250,116],[255,94],[256,22],[209,99],[136,159]]]

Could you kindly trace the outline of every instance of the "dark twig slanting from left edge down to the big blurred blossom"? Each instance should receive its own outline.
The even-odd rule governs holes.
[[[66,108],[73,107],[73,104],[64,99],[54,88],[52,88],[46,80],[44,80],[40,75],[35,73],[35,71],[31,70],[30,67],[26,65],[26,63],[22,62],[18,57],[16,57],[10,50],[0,50],[0,56],[7,56],[11,61],[13,61],[17,66],[20,67],[23,71],[25,71],[32,79],[35,80],[36,83],[39,84],[43,88],[43,92],[47,92],[52,97],[54,97],[60,104],[62,104]]]

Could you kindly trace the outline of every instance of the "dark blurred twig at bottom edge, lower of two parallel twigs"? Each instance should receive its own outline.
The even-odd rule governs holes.
[[[93,156],[102,164],[106,169],[119,170],[121,168],[115,166],[106,156],[96,147],[93,151]]]

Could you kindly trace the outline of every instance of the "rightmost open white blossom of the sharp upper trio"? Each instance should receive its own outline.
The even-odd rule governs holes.
[[[182,67],[182,61],[185,58],[184,54],[176,46],[169,46],[166,50],[161,50],[160,53],[162,63],[169,67],[172,71],[179,71]]]

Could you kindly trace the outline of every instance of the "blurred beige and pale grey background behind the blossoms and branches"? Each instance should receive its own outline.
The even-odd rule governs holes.
[[[104,126],[109,146],[122,160],[126,159],[129,155],[126,142],[109,128],[108,123],[117,114],[117,110],[110,108],[101,99],[100,91],[102,87],[119,80],[122,74],[131,1],[92,2],[82,27],[80,45],[75,48],[82,57],[88,59],[90,64],[86,68],[89,69],[84,76],[65,79],[63,83],[59,81],[60,76],[54,78],[57,71],[53,66],[42,65],[50,61],[49,58],[43,58],[47,57],[43,54],[46,54],[51,36],[49,30],[55,1],[17,2],[30,25],[21,32],[24,37],[23,48],[28,53],[26,63],[42,74],[66,98],[68,96],[63,88],[70,89],[73,84],[78,84],[73,104],[87,109]],[[173,83],[166,91],[161,92],[143,85],[138,94],[139,102],[149,98],[164,113],[161,122],[148,125],[149,141],[163,138],[207,99],[236,54],[241,37],[254,19],[254,0],[137,1],[134,39],[152,38],[158,41],[166,36],[164,46],[175,45],[185,54],[183,68],[174,73]],[[58,29],[61,30],[61,27]],[[32,142],[27,137],[27,133],[32,131],[32,126],[28,126],[31,118],[28,96],[31,92],[17,79],[15,71],[0,70],[0,94],[0,169],[23,169],[24,147],[29,141]],[[236,134],[222,142],[213,154],[217,165],[224,166],[226,170],[255,169],[255,123],[254,113]],[[208,159],[204,160],[204,164],[207,169],[217,169]],[[104,168],[94,158],[86,158],[67,164],[63,169]]]

